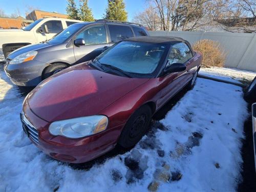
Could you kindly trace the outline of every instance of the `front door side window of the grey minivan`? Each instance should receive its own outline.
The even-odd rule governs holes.
[[[75,39],[83,38],[86,45],[106,44],[106,31],[104,25],[87,28],[79,33]]]

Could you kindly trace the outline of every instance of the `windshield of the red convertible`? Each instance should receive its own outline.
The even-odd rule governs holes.
[[[154,73],[165,51],[166,45],[162,44],[121,41],[95,60],[102,66],[118,68],[130,75],[148,76]]]

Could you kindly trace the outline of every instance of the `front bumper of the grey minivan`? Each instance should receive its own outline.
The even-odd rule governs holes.
[[[7,62],[4,66],[5,73],[17,86],[37,86],[41,82],[42,71],[47,64],[37,60],[10,65]]]

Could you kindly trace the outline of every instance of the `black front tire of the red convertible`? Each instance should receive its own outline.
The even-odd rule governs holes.
[[[119,137],[118,144],[124,148],[136,145],[146,133],[152,117],[151,108],[148,105],[141,106],[126,122]]]

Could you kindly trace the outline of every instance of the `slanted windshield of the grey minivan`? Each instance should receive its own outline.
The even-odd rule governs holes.
[[[62,44],[62,42],[65,42],[69,37],[71,37],[74,33],[77,32],[77,30],[79,30],[83,26],[84,25],[82,24],[70,25],[68,28],[56,35],[53,39],[49,40],[49,42],[52,44]]]

